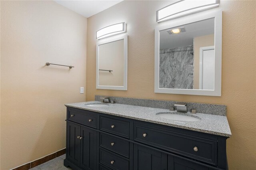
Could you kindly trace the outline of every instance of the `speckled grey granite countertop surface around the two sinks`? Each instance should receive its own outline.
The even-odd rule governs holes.
[[[160,112],[170,112],[168,109],[158,109],[152,107],[142,107],[134,105],[123,104],[111,104],[108,103],[106,107],[90,107],[89,103],[101,103],[99,101],[88,101],[82,103],[66,104],[67,107],[74,107],[78,109],[84,109],[88,111],[95,111],[99,113],[105,113],[108,115],[114,115],[118,117],[125,117],[139,121],[146,121],[156,123],[160,125],[166,125],[170,127],[178,127],[188,130],[194,130],[198,132],[204,132],[208,134],[216,134],[219,136],[231,136],[230,127],[226,116],[210,115],[203,113],[178,113],[175,114],[187,114],[191,117],[198,117],[199,121],[175,121],[171,119],[161,118],[156,115]]]

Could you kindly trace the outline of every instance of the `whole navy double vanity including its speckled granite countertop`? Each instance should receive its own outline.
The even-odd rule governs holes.
[[[231,132],[225,115],[180,113],[156,108],[157,103],[152,107],[119,103],[66,105],[65,166],[73,170],[228,169],[226,139]]]

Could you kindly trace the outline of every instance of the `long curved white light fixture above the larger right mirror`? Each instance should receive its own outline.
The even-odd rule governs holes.
[[[220,0],[180,0],[156,11],[156,22],[178,18],[219,5]]]

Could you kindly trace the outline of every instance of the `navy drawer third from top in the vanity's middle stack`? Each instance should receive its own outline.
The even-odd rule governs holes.
[[[100,149],[100,163],[113,170],[129,170],[128,160],[103,149]]]

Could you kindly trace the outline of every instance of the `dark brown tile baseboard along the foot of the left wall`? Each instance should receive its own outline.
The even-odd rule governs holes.
[[[57,157],[65,154],[65,153],[66,153],[66,148],[58,150],[57,152],[46,155],[46,156],[44,156],[42,158],[39,158],[37,160],[33,160],[31,162],[28,162],[28,163],[23,164],[21,166],[18,166],[16,168],[13,168],[12,170],[29,170],[30,168],[34,168],[35,166],[38,166],[38,165],[43,164],[45,162],[48,162],[49,160],[57,158]]]

